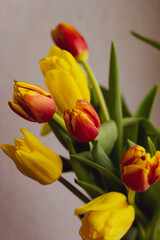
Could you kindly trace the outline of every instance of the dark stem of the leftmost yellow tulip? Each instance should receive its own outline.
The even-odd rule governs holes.
[[[58,180],[66,188],[68,188],[72,193],[74,193],[78,198],[80,198],[84,203],[87,203],[90,201],[89,198],[87,198],[83,193],[81,193],[77,188],[75,188],[70,182],[68,182],[62,176]]]

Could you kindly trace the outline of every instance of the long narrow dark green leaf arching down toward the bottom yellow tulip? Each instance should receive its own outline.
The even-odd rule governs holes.
[[[94,163],[86,158],[83,158],[81,156],[81,154],[71,155],[71,158],[78,160],[81,163],[98,170],[100,173],[102,173],[104,176],[106,176],[110,182],[110,186],[112,186],[112,190],[118,191],[118,190],[123,189],[123,184],[122,184],[121,180],[117,176],[115,176],[113,173],[109,172],[106,168],[102,167],[101,165]]]

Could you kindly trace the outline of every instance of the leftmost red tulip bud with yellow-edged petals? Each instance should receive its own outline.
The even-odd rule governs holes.
[[[13,102],[9,100],[8,104],[15,113],[31,122],[47,122],[56,112],[56,104],[48,91],[24,82],[15,83]]]

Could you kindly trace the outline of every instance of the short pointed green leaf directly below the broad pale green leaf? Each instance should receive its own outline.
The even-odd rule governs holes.
[[[102,167],[105,167],[108,171],[115,174],[114,165],[108,155],[104,152],[98,140],[93,141],[92,156],[95,163],[98,163]]]

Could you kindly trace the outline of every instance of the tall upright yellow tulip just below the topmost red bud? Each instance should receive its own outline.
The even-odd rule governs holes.
[[[77,99],[90,102],[87,78],[69,52],[51,47],[49,56],[40,60],[40,69],[60,112],[74,107]]]

